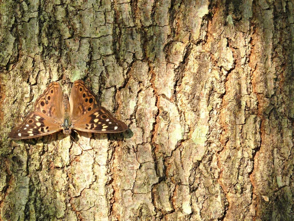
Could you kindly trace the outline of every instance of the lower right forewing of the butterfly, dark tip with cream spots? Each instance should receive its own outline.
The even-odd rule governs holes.
[[[89,111],[83,118],[72,123],[73,129],[90,133],[118,133],[128,128],[103,107]]]

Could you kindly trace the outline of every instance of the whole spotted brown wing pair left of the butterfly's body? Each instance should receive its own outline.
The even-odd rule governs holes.
[[[59,83],[52,82],[38,97],[31,111],[23,122],[12,129],[11,139],[37,138],[62,130],[63,92]]]

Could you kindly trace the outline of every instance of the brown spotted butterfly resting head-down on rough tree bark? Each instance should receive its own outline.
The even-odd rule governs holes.
[[[82,81],[73,83],[70,98],[61,86],[52,82],[34,104],[23,122],[8,135],[11,139],[38,138],[63,130],[89,133],[119,133],[128,127],[103,107],[98,107],[94,93]]]

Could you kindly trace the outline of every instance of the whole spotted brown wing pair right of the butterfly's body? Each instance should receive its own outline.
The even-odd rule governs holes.
[[[72,127],[90,133],[118,133],[128,127],[103,107],[98,107],[96,96],[81,80],[73,83],[70,96]]]

